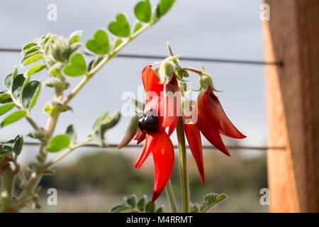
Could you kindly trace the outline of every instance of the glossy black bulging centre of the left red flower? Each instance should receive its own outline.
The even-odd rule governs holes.
[[[138,127],[143,133],[158,133],[159,118],[157,114],[152,110],[143,113],[138,119]]]

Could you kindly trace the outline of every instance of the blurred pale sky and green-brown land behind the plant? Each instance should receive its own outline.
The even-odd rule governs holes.
[[[2,1],[0,8],[0,48],[22,48],[25,43],[47,33],[68,37],[72,31],[83,30],[82,42],[93,35],[97,28],[106,29],[116,13],[125,12],[130,23],[135,17],[133,9],[138,0],[127,1]],[[151,1],[153,5],[157,0]],[[57,6],[57,21],[47,20],[47,6]],[[235,60],[263,60],[262,21],[260,1],[256,0],[177,0],[169,13],[152,28],[142,33],[125,47],[121,53],[140,55],[167,55],[167,40],[174,54],[182,57],[208,57]],[[84,50],[84,48],[83,48]],[[89,59],[90,57],[88,57]],[[21,55],[17,52],[0,52],[0,75],[3,79],[18,65]],[[72,100],[74,111],[61,114],[55,133],[63,133],[70,123],[77,128],[78,138],[85,138],[96,116],[101,111],[113,112],[125,103],[123,92],[137,94],[142,85],[140,72],[155,60],[114,58],[91,79],[82,92]],[[186,67],[199,68],[199,62],[181,61]],[[213,76],[216,89],[225,113],[247,138],[227,140],[226,145],[264,147],[267,143],[265,113],[264,67],[262,65],[225,64],[201,62]],[[34,79],[44,81],[45,72],[35,74]],[[69,79],[69,78],[68,78]],[[70,78],[77,84],[79,78]],[[198,88],[196,77],[190,77],[194,89]],[[72,86],[71,86],[72,88]],[[66,92],[67,93],[67,92]],[[32,116],[44,126],[47,116],[43,105],[52,99],[52,89],[42,89]],[[1,117],[2,118],[2,117]],[[106,133],[108,143],[119,143],[125,133],[130,117],[121,118],[120,123]],[[31,131],[27,121],[1,128],[0,140],[4,142],[17,134]],[[172,135],[176,143],[176,135]],[[25,137],[26,141],[35,142]],[[203,138],[203,143],[208,145]],[[38,148],[25,146],[21,162],[25,165],[35,160]],[[140,170],[135,170],[140,149],[82,148],[74,151],[55,166],[54,176],[45,176],[42,181],[40,211],[109,211],[120,204],[123,196],[147,194],[152,196],[154,170],[152,158]],[[267,187],[267,165],[265,150],[230,150],[226,157],[214,149],[204,150],[206,187],[203,187],[193,157],[189,153],[191,200],[200,203],[203,194],[226,193],[229,198],[212,211],[223,212],[267,212],[268,207],[259,203],[260,189]],[[54,155],[49,155],[54,157]],[[179,166],[174,166],[171,178],[177,200],[180,202]],[[47,188],[56,188],[57,206],[47,206]],[[169,206],[165,193],[158,205]],[[28,211],[28,209],[26,209]]]

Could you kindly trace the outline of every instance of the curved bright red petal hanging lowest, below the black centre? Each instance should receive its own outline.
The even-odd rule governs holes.
[[[152,150],[155,165],[155,182],[152,202],[154,202],[164,190],[169,181],[169,177],[171,177],[174,165],[174,147],[172,141],[169,139],[166,132],[156,134],[157,143]]]

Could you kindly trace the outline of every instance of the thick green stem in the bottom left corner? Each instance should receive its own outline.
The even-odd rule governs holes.
[[[1,211],[4,212],[11,206],[12,187],[14,174],[10,165],[4,166],[1,177]]]

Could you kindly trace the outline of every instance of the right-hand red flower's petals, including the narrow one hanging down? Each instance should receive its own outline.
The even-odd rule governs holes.
[[[211,79],[209,79],[209,82],[211,82]],[[220,137],[220,133],[230,138],[246,138],[246,136],[240,133],[233,123],[230,122],[223,111],[220,101],[215,94],[213,94],[213,89],[211,88],[213,86],[212,83],[210,84],[211,85],[208,85],[206,92],[205,89],[202,89],[199,93],[196,104],[191,106],[193,110],[190,111],[190,116],[188,116],[188,118],[184,116],[186,138],[189,142],[191,153],[196,161],[203,185],[205,185],[205,179],[200,131],[211,144],[228,156],[230,156],[230,153],[225,147],[223,140]],[[189,118],[194,118],[196,114],[197,118],[195,118],[195,121],[189,120]]]

